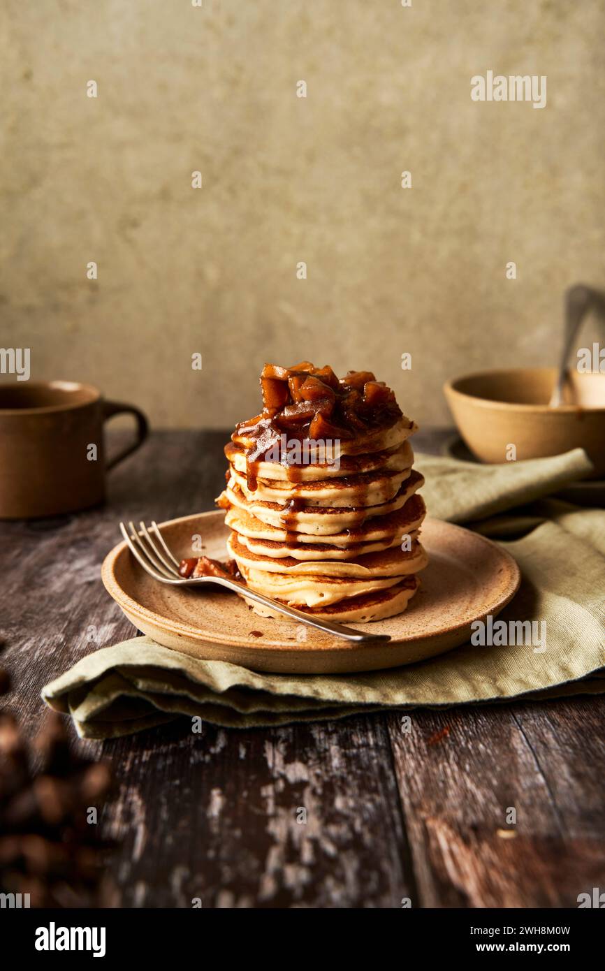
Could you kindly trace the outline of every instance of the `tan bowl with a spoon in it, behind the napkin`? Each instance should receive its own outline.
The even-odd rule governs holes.
[[[540,458],[584,449],[591,478],[605,476],[605,374],[570,371],[565,404],[551,408],[555,368],[512,368],[456,378],[444,393],[458,431],[482,462]]]

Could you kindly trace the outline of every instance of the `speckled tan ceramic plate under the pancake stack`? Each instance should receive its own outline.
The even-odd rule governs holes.
[[[198,534],[205,555],[224,559],[229,530],[223,515],[218,511],[171,519],[161,523],[162,535],[176,556],[190,556],[192,537]],[[374,645],[351,645],[291,620],[258,617],[241,597],[219,587],[159,584],[125,543],[105,558],[102,578],[135,627],[175,651],[255,671],[372,671],[450,651],[468,640],[473,620],[498,614],[519,587],[513,557],[484,536],[425,519],[421,538],[430,563],[405,613],[373,624],[351,624],[390,634],[389,642]]]

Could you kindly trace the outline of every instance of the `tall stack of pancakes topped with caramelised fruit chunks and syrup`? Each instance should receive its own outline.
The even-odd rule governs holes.
[[[225,447],[229,471],[217,501],[231,529],[230,556],[248,586],[305,613],[345,621],[401,613],[427,562],[419,540],[423,479],[408,441],[417,426],[369,372],[339,381],[308,362],[267,371],[263,414],[238,425]],[[286,376],[279,380],[293,398],[267,390],[275,373]],[[320,397],[326,373],[329,406]],[[302,380],[292,385],[292,376]],[[311,450],[311,460],[292,462],[291,448],[276,452],[278,436],[289,447],[292,436],[318,441],[316,429],[337,434],[328,449]],[[281,616],[249,602],[258,614]]]

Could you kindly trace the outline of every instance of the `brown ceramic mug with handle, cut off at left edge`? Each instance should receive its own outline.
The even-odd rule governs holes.
[[[133,415],[136,437],[107,462],[103,423]],[[91,385],[0,385],[0,519],[31,519],[87,509],[105,498],[105,473],[143,443],[145,415],[105,401]]]

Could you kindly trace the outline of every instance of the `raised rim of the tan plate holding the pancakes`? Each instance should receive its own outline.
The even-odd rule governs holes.
[[[207,510],[203,513],[190,513],[188,516],[179,516],[175,519],[165,519],[158,523],[159,527],[171,526],[179,522],[185,522],[189,519],[218,519],[222,518],[223,513],[220,510]],[[497,554],[502,558],[502,560],[508,565],[509,568],[509,584],[507,585],[506,592],[498,598],[493,604],[489,606],[485,613],[478,615],[477,618],[468,621],[463,620],[460,623],[449,625],[443,627],[440,630],[434,631],[430,634],[419,634],[411,633],[407,637],[391,637],[390,641],[387,642],[389,647],[405,647],[410,644],[430,644],[431,641],[442,638],[446,634],[454,634],[456,631],[463,631],[469,626],[469,622],[473,623],[477,619],[486,618],[488,614],[499,614],[507,604],[511,602],[513,597],[517,594],[519,587],[521,586],[521,569],[519,563],[515,557],[504,550],[493,540],[490,540],[487,536],[482,533],[475,532],[472,529],[467,529],[465,526],[461,526],[455,522],[449,522],[447,519],[437,519],[436,517],[427,517],[432,522],[438,522],[445,525],[448,529],[459,530],[464,533],[469,533],[475,540],[482,542],[484,545],[488,546],[492,551],[497,552]],[[169,629],[173,634],[189,638],[191,640],[197,641],[200,644],[207,644],[209,637],[212,638],[212,642],[221,647],[231,647],[231,648],[258,648],[264,651],[272,652],[283,652],[283,653],[325,653],[326,651],[339,651],[339,652],[351,652],[359,646],[356,644],[350,644],[341,638],[334,638],[333,644],[329,646],[319,646],[308,644],[305,642],[293,642],[292,644],[285,644],[282,641],[271,643],[267,638],[263,641],[261,645],[255,645],[251,640],[246,638],[238,637],[237,635],[226,636],[219,631],[213,631],[212,633],[205,633],[200,629],[195,629],[182,623],[179,620],[174,620],[166,618],[163,615],[157,614],[151,611],[148,607],[144,607],[138,601],[133,600],[131,596],[119,585],[118,579],[115,574],[116,563],[118,558],[127,551],[127,545],[125,540],[118,543],[110,552],[105,556],[103,563],[101,565],[101,581],[105,589],[112,597],[112,599],[118,604],[120,610],[124,613],[128,612],[128,615],[134,615],[146,621],[151,621],[151,623],[157,626],[162,626]],[[237,594],[234,594],[237,595]],[[380,621],[377,621],[380,623]],[[353,621],[352,621],[353,623]],[[381,643],[381,642],[377,642]]]

